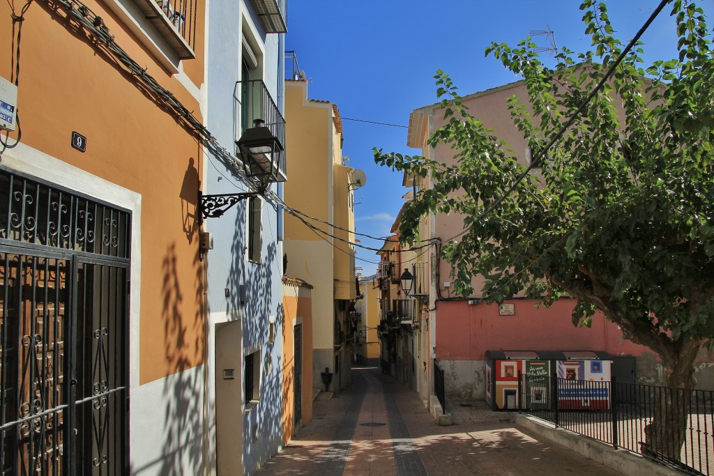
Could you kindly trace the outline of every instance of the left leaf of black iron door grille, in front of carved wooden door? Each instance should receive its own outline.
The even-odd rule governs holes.
[[[64,466],[67,262],[0,253],[2,474]]]

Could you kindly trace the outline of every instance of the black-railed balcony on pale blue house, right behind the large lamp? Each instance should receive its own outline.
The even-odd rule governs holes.
[[[278,139],[283,151],[276,152],[278,154],[278,182],[288,180],[287,163],[285,152],[285,118],[280,113],[278,106],[268,92],[265,83],[260,79],[252,79],[250,81],[238,81],[236,83],[236,110],[241,111],[241,129],[236,130],[236,141],[241,137],[241,134],[247,128],[253,125],[256,119],[263,119],[265,126],[273,136]]]

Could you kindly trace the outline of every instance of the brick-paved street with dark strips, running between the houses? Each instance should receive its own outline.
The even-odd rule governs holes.
[[[451,405],[440,427],[415,393],[376,368],[318,398],[313,421],[258,475],[598,475],[620,473],[513,423],[485,404]]]

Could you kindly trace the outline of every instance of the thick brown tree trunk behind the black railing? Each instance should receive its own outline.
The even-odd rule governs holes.
[[[678,352],[663,355],[663,388],[653,388],[652,420],[645,427],[644,455],[679,462],[687,435],[699,344],[689,342]]]

